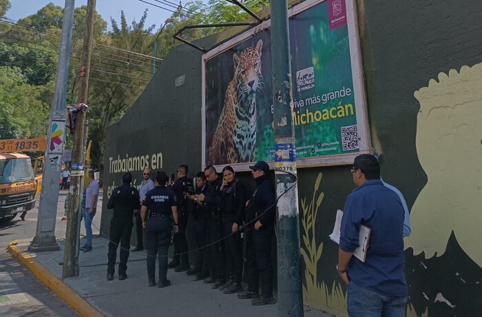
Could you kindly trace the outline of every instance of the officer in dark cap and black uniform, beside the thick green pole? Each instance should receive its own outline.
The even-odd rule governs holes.
[[[251,304],[255,306],[272,305],[276,303],[273,297],[273,267],[271,264],[271,239],[275,232],[275,185],[269,178],[269,165],[265,161],[258,161],[249,168],[252,170],[251,173],[257,185],[255,193],[248,203],[248,210],[253,213],[253,219],[258,219],[250,225],[250,229],[261,289],[261,296],[253,298]]]

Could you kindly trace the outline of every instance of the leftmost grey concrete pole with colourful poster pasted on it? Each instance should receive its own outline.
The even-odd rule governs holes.
[[[59,179],[61,173],[62,152],[65,143],[65,108],[67,79],[69,75],[70,43],[72,42],[72,23],[74,21],[75,0],[65,0],[62,24],[62,37],[59,49],[59,63],[55,80],[54,100],[50,109],[47,150],[43,167],[43,186],[40,195],[39,216],[36,232],[28,250],[58,250],[55,238],[55,220],[59,202]]]

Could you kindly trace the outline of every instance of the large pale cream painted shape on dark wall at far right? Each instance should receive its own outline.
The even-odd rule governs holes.
[[[482,248],[474,243],[482,227],[482,63],[441,72],[438,79],[415,92],[417,154],[428,183],[410,212],[406,248],[426,258],[441,256],[453,231],[482,267]]]

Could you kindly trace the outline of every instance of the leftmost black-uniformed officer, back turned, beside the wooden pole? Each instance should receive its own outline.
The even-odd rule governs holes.
[[[110,221],[109,251],[107,252],[107,280],[114,279],[117,246],[121,241],[121,262],[119,263],[119,280],[125,280],[127,274],[127,260],[132,233],[132,216],[134,209],[140,209],[139,192],[130,184],[132,174],[127,172],[122,176],[122,186],[116,187],[110,195],[107,209],[114,209],[114,216]]]

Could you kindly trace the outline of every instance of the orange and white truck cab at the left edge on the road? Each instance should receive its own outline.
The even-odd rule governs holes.
[[[0,154],[0,221],[10,221],[35,205],[36,180],[30,156]]]

